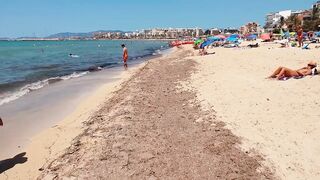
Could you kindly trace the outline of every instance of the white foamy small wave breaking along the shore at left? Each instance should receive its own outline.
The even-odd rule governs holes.
[[[72,73],[70,75],[66,75],[66,76],[61,76],[61,77],[52,77],[52,78],[48,78],[42,81],[38,81],[38,82],[34,82],[31,84],[27,84],[25,86],[23,86],[22,88],[20,88],[20,90],[13,92],[13,93],[6,93],[2,96],[0,96],[0,106],[6,103],[9,103],[11,101],[17,100],[20,97],[28,94],[31,91],[35,91],[38,89],[41,89],[49,84],[58,82],[58,81],[62,81],[62,80],[69,80],[69,79],[73,79],[73,78],[77,78],[77,77],[81,77],[88,74],[88,71],[86,72],[81,72],[81,73]]]

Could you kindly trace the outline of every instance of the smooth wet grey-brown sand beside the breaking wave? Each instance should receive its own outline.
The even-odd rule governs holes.
[[[51,84],[0,107],[0,159],[12,157],[39,132],[54,126],[72,113],[81,101],[106,83],[120,79],[122,67]]]

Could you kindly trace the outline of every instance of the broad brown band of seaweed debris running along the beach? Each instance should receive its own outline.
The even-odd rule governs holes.
[[[190,48],[152,60],[105,102],[39,179],[272,179],[263,159],[183,88]]]

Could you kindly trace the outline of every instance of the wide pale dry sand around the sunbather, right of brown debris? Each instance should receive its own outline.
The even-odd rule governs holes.
[[[278,47],[209,50],[216,54],[195,58],[192,84],[202,104],[243,138],[245,150],[262,153],[278,177],[320,179],[320,76],[265,79],[278,66],[319,64],[319,49]]]

